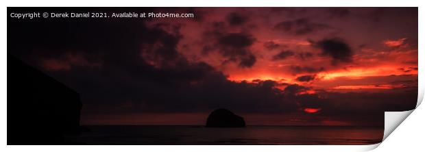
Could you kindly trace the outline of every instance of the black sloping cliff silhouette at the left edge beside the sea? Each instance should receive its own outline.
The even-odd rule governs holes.
[[[8,55],[8,144],[71,144],[80,129],[80,95]]]

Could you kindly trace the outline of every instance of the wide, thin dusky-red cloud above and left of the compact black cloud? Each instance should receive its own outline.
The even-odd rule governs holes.
[[[307,18],[299,18],[292,21],[282,21],[274,26],[274,29],[291,32],[295,35],[315,33],[322,29],[330,28],[328,25],[311,23]]]

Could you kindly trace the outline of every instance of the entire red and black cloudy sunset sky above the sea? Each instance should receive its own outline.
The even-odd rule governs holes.
[[[204,125],[223,107],[247,125],[382,126],[416,105],[417,8],[62,11],[195,14],[8,20],[8,53],[79,92],[82,125]]]

